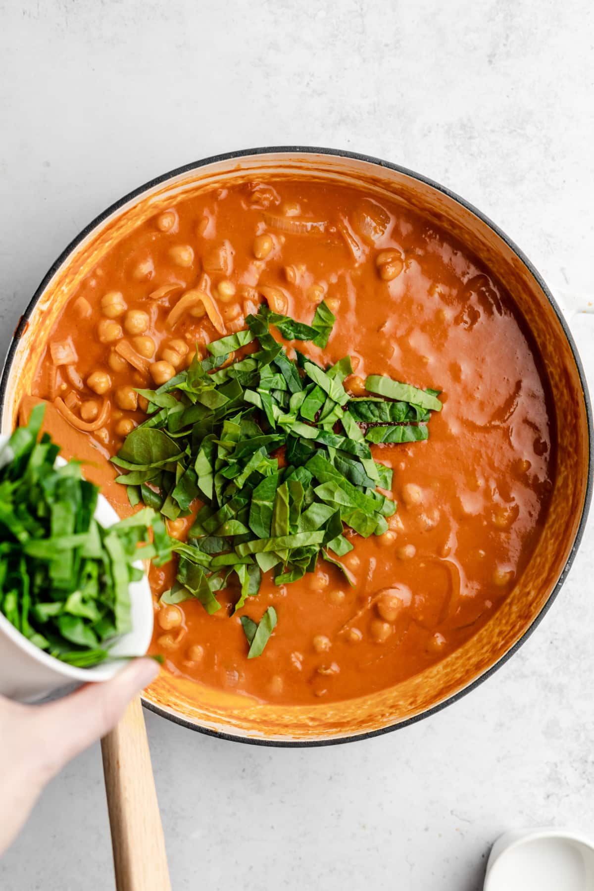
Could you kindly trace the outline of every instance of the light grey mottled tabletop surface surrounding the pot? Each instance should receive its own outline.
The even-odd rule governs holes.
[[[0,348],[121,194],[217,151],[330,145],[484,210],[553,285],[594,291],[590,0],[0,0]],[[573,324],[594,382],[594,317]],[[479,690],[306,751],[148,714],[175,891],[475,891],[502,830],[594,833],[594,526],[557,603]],[[1,806],[1,802],[0,802]],[[98,746],[46,790],[3,891],[113,887]]]

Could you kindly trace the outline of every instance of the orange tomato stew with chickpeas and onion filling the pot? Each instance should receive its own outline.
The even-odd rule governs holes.
[[[240,615],[257,621],[273,605],[278,625],[248,660],[240,615],[230,616],[235,589],[217,595],[225,609],[214,616],[198,601],[159,607],[175,566],[151,568],[152,651],[174,674],[287,704],[361,696],[443,659],[509,596],[555,473],[547,381],[509,294],[396,203],[338,184],[246,183],[181,200],[112,247],[54,326],[34,395],[105,458],[116,454],[145,417],[134,388],[157,386],[196,343],[221,337],[201,304],[167,325],[197,287],[228,332],[245,327],[262,289],[281,289],[305,323],[325,298],[337,316],[328,346],[299,348],[324,364],[352,356],[356,395],[367,375],[386,374],[441,390],[443,411],[426,442],[371,446],[394,470],[398,511],[386,534],[352,537],[354,587],[321,560],[293,584],[268,573]],[[170,531],[183,537],[190,523]]]

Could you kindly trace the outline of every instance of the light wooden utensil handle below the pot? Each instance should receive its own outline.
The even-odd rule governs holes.
[[[117,891],[171,891],[140,697],[102,739]]]

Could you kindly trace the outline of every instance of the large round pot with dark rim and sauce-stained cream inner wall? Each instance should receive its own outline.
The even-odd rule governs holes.
[[[14,333],[0,382],[1,432],[14,426],[45,339],[77,285],[110,246],[172,199],[245,178],[311,178],[363,186],[414,208],[464,242],[505,284],[538,344],[557,423],[557,476],[533,558],[507,601],[460,650],[421,674],[361,699],[312,706],[264,705],[162,673],[144,705],[201,732],[269,745],[322,745],[406,726],[472,690],[514,653],[559,592],[590,503],[593,437],[582,364],[566,321],[521,250],[476,208],[411,170],[348,151],[237,151],[173,170],[108,208],[45,275]]]

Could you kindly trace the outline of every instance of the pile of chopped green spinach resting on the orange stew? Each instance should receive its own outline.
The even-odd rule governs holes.
[[[391,471],[374,461],[370,443],[427,438],[430,412],[441,403],[435,390],[373,375],[367,388],[381,397],[353,398],[348,356],[327,368],[298,351],[293,360],[271,331],[323,348],[334,322],[323,302],[311,326],[261,306],[248,315],[247,331],[216,340],[209,358],[196,356],[168,384],[142,391],[148,417],[113,459],[127,471],[118,480],[170,519],[204,503],[188,543],[175,545],[179,568],[163,601],[195,598],[212,613],[216,593],[234,585],[235,609],[243,609],[262,573],[288,584],[313,572],[319,558],[352,584],[336,560],[353,548],[344,533],[386,531],[396,505],[377,486],[390,488]],[[248,355],[229,362],[242,347]],[[241,622],[253,658],[276,614],[269,609],[257,626],[246,616]]]

